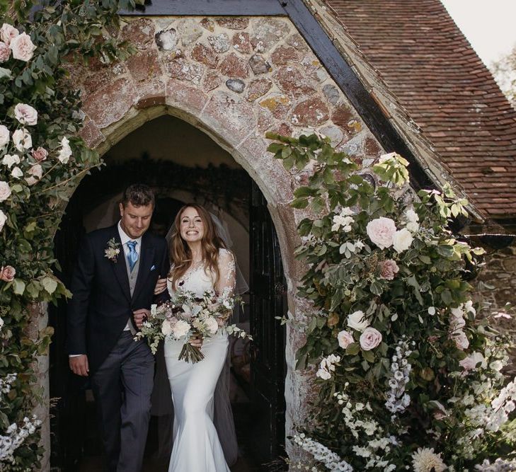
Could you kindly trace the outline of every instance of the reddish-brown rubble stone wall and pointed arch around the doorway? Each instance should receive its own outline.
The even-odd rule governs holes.
[[[86,144],[105,154],[132,130],[164,114],[210,136],[265,195],[280,240],[289,313],[299,318],[309,310],[295,296],[303,274],[294,259],[296,226],[305,213],[289,202],[307,175],[286,171],[273,159],[265,132],[321,132],[365,165],[382,154],[377,139],[287,18],[134,17],[121,35],[137,47],[127,62],[69,69],[83,93]],[[287,434],[304,417],[309,396],[294,368],[302,341],[287,328]],[[47,364],[42,359],[43,381]],[[47,425],[45,449],[48,434]],[[45,470],[48,460],[43,464]]]

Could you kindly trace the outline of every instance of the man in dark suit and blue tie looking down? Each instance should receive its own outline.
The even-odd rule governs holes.
[[[120,221],[86,234],[71,278],[70,369],[91,379],[110,472],[139,472],[147,439],[154,357],[133,336],[169,267],[164,238],[147,233],[153,211],[151,189],[130,185]]]

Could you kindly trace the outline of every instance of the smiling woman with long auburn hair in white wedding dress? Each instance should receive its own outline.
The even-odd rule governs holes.
[[[198,297],[208,290],[217,295],[234,292],[234,255],[225,247],[205,208],[185,205],[180,209],[174,221],[170,253],[167,288],[171,297],[178,290],[194,292]],[[179,340],[166,340],[164,345],[175,412],[168,471],[229,472],[212,421],[215,386],[227,357],[227,333],[219,330],[204,340],[205,358],[196,364],[178,360],[182,346]]]

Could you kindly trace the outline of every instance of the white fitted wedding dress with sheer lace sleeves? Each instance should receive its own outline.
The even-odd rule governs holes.
[[[198,297],[207,290],[217,294],[232,291],[235,285],[233,255],[219,250],[219,280],[214,286],[214,274],[203,265],[190,267],[178,281],[180,289]],[[176,289],[167,282],[173,297]],[[226,361],[228,336],[219,330],[202,343],[202,361],[190,364],[178,360],[183,341],[166,340],[164,345],[166,371],[174,405],[173,449],[168,472],[229,472],[224,452],[213,425],[213,394]]]

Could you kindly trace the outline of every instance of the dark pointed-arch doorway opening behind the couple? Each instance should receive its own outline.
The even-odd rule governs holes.
[[[171,145],[173,144],[173,146]],[[231,395],[241,459],[235,470],[263,470],[260,464],[283,454],[285,443],[285,331],[275,316],[286,311],[280,246],[267,202],[258,185],[220,146],[199,129],[170,115],[145,123],[105,154],[101,172],[84,178],[71,196],[55,238],[60,274],[68,282],[80,237],[117,221],[117,200],[135,181],[156,192],[151,231],[166,233],[185,202],[196,201],[221,214],[234,238],[234,251],[251,291],[241,323],[253,345],[234,345]],[[51,466],[62,471],[97,470],[101,442],[88,385],[73,376],[64,346],[66,306],[50,309],[55,328],[50,352],[52,407]],[[151,422],[148,455],[159,431]],[[160,463],[161,464],[161,463]],[[149,470],[159,470],[147,461]],[[164,469],[166,470],[166,469]]]

